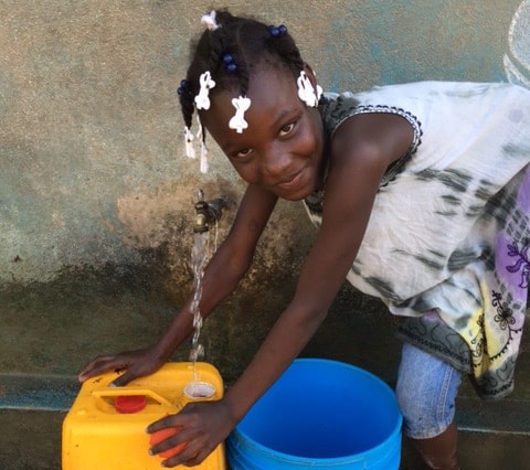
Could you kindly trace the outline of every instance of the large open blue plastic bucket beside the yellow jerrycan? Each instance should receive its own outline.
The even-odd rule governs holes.
[[[232,470],[398,470],[402,417],[392,389],[350,364],[296,360],[226,441]]]

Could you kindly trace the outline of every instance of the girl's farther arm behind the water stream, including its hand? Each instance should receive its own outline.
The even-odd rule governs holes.
[[[242,199],[232,228],[204,270],[200,311],[208,317],[227,297],[248,270],[257,241],[274,210],[277,197],[250,185]],[[126,370],[114,381],[121,386],[158,370],[193,329],[191,293],[157,344],[138,351],[98,356],[80,374],[80,381],[112,370]]]

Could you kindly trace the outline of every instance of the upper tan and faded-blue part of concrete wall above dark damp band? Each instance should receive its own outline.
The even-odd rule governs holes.
[[[182,152],[174,90],[212,3],[287,24],[325,89],[526,73],[520,0],[2,0],[0,286],[155,261],[184,276],[197,190],[233,207],[242,192],[219,151],[205,177]],[[300,218],[282,205],[259,268],[298,263]]]

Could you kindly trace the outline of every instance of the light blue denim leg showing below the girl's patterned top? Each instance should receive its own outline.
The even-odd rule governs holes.
[[[455,418],[460,372],[404,343],[395,393],[403,414],[403,432],[413,439],[442,434]]]

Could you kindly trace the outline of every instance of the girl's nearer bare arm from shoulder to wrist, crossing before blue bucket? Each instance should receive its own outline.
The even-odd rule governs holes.
[[[386,168],[406,154],[413,131],[393,115],[347,120],[331,145],[322,224],[292,302],[225,400],[234,423],[301,352],[325,319],[362,242]]]

